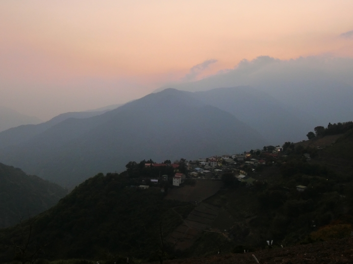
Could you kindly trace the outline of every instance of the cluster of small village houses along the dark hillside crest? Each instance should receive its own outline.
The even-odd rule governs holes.
[[[288,142],[289,143],[289,142]],[[321,148],[318,148],[321,149]],[[164,186],[163,182],[168,182],[168,179],[173,186],[183,185],[186,179],[194,180],[222,180],[224,174],[232,174],[236,180],[252,185],[256,180],[256,176],[260,174],[263,166],[282,163],[285,164],[287,155],[280,146],[265,146],[262,150],[256,149],[242,154],[210,156],[199,158],[197,160],[183,161],[184,169],[180,170],[180,163],[176,161],[171,163],[166,160],[163,163],[149,162],[145,163],[145,168],[173,168],[174,175],[162,175],[155,178],[143,179],[140,189],[147,189],[150,186]],[[310,154],[303,154],[303,158],[310,160]],[[150,184],[146,184],[146,182]],[[135,187],[135,186],[134,186]],[[306,187],[303,185],[297,186],[298,191],[303,191]],[[164,189],[162,190],[164,192]]]

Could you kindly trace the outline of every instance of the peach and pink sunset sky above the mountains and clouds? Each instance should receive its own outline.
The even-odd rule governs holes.
[[[352,0],[1,0],[0,105],[47,120],[261,55],[353,57],[352,11]]]

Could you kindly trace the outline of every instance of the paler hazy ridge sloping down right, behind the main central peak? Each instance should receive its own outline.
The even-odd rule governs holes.
[[[301,141],[312,128],[310,122],[295,115],[280,101],[249,86],[195,92],[195,96],[208,105],[233,114],[272,145]]]

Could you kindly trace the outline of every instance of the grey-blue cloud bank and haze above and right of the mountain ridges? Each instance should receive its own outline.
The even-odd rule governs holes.
[[[279,60],[260,56],[200,81],[163,88],[205,91],[237,86],[251,86],[271,95],[313,125],[353,119],[353,58],[326,55]]]

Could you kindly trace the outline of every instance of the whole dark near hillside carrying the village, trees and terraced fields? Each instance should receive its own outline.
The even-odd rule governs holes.
[[[169,261],[246,249],[265,263],[267,241],[286,250],[345,239],[353,231],[353,130],[330,130],[240,154],[130,161],[124,172],[85,180],[39,215],[34,239],[51,242],[46,259],[109,263],[117,256],[125,258],[117,263],[157,261],[161,230]],[[10,241],[21,233],[14,226],[1,236]],[[102,249],[107,253],[99,255]],[[0,258],[10,261],[11,252]]]

